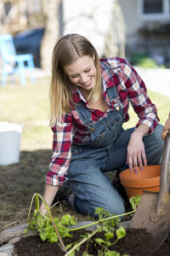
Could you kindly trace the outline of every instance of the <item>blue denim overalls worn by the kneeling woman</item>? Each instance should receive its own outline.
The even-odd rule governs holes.
[[[90,132],[91,142],[72,144],[68,178],[75,195],[74,207],[78,212],[94,216],[96,207],[104,207],[111,214],[125,211],[122,196],[111,184],[105,172],[127,168],[127,144],[135,128],[122,129],[123,111],[116,86],[107,89],[114,109],[105,118],[93,122],[90,110],[81,102],[75,108],[79,118]],[[144,137],[148,164],[157,164],[163,143],[162,125],[152,135]]]

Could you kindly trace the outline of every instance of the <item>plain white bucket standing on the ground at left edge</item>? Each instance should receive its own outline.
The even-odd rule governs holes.
[[[0,166],[20,160],[20,136],[23,125],[0,122]]]

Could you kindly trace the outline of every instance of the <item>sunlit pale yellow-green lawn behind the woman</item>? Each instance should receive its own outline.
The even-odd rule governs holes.
[[[52,147],[52,131],[48,126],[48,88],[49,78],[37,79],[36,83],[27,81],[25,87],[20,84],[7,84],[0,87],[0,121],[24,124],[20,149],[34,150]],[[169,97],[148,91],[152,102],[156,104],[161,124],[165,124],[169,111]],[[125,128],[134,126],[138,116],[129,109],[130,120]]]

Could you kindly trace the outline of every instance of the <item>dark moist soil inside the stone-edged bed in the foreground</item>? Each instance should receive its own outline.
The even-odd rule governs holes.
[[[65,238],[65,245],[70,244],[73,241],[78,241],[81,235],[87,232],[86,230],[77,230],[73,233],[72,238]],[[104,238],[104,233],[98,233],[94,238]],[[94,241],[94,239],[93,239]],[[82,253],[86,250],[87,244],[84,243],[80,250],[76,252],[76,255],[82,256]],[[161,248],[154,254],[151,253],[151,236],[145,230],[127,230],[127,235],[118,241],[114,246],[110,247],[111,250],[116,251],[122,255],[127,253],[130,256],[167,256],[170,255],[170,237],[164,242]],[[48,241],[41,241],[39,236],[30,236],[22,238],[15,243],[14,246],[15,255],[17,256],[62,256],[65,253],[59,247],[57,243],[49,243]],[[98,255],[94,243],[90,242],[88,245],[88,253],[90,255]]]

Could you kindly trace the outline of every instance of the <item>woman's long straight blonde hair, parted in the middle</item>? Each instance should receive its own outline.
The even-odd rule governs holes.
[[[88,55],[94,58],[96,67],[96,84],[90,93],[93,102],[99,99],[101,92],[101,74],[99,71],[99,56],[94,46],[78,34],[69,34],[60,38],[54,46],[52,56],[52,79],[49,89],[50,125],[61,121],[62,115],[71,111],[71,82],[64,67],[76,61],[78,57]]]

